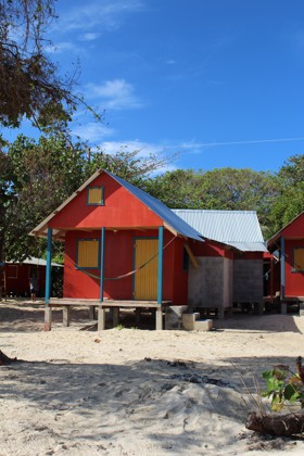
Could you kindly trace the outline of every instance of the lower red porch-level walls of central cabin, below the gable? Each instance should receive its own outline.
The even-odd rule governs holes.
[[[119,230],[105,231],[104,276],[114,278],[134,270],[135,238],[156,238],[157,230]],[[87,269],[90,277],[76,269],[77,239],[100,238],[97,231],[68,231],[65,240],[64,261],[64,297],[100,297],[100,271]],[[169,231],[164,232],[164,246],[172,240]],[[175,305],[187,304],[188,274],[182,270],[181,239],[176,238],[164,249],[163,300],[173,301]],[[132,300],[134,275],[119,280],[104,281],[104,296],[116,300]]]

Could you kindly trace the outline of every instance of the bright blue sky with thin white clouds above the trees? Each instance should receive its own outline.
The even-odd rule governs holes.
[[[59,0],[51,58],[105,110],[73,130],[173,168],[278,170],[304,148],[303,0]],[[73,71],[73,69],[72,69]]]

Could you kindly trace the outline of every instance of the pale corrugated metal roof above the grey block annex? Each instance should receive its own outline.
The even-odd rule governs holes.
[[[267,252],[255,211],[173,211],[204,238],[242,252]]]

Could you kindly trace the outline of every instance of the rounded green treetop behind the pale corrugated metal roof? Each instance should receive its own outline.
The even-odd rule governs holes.
[[[149,191],[172,208],[256,211],[265,237],[279,194],[275,175],[235,168],[177,169],[152,180]]]

